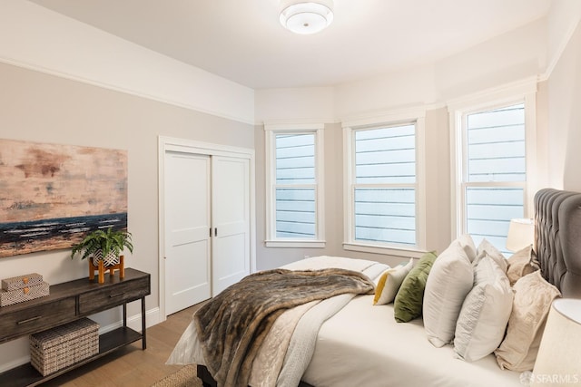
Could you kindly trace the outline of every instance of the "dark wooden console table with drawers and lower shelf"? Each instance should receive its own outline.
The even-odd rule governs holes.
[[[103,284],[88,278],[77,279],[51,285],[50,295],[45,297],[0,307],[0,343],[5,343],[123,305],[123,326],[99,336],[99,353],[45,377],[27,363],[0,373],[0,385],[35,386],[138,340],[142,340],[145,349],[145,295],[151,293],[151,287],[149,274],[128,268],[123,279],[105,276]],[[127,303],[139,299],[142,301],[142,334],[127,327]]]

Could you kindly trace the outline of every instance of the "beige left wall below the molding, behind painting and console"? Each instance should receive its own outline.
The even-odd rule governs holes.
[[[133,255],[126,266],[152,275],[146,297],[148,324],[159,315],[158,136],[253,148],[253,126],[83,82],[0,63],[0,139],[127,150],[128,228]],[[0,276],[37,272],[49,284],[87,276],[87,263],[70,250],[0,258]],[[135,303],[133,303],[135,304]],[[129,315],[139,313],[138,303]],[[96,317],[107,327],[119,311]],[[26,360],[26,340],[0,345],[0,371]]]

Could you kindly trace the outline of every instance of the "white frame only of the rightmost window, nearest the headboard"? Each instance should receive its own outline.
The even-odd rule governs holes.
[[[494,110],[511,104],[525,104],[525,157],[527,181],[519,182],[487,182],[471,183],[469,187],[507,187],[524,189],[524,216],[533,217],[533,197],[537,191],[537,80],[527,79],[482,92],[476,95],[448,103],[450,125],[450,156],[451,156],[451,211],[452,235],[455,239],[466,233],[466,196],[467,185],[467,141],[464,119],[467,114],[475,111]]]

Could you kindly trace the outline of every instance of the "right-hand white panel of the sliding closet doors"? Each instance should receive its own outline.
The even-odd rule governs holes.
[[[250,163],[212,156],[212,295],[250,274]]]

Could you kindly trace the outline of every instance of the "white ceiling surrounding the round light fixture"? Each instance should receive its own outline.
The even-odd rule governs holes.
[[[330,86],[466,50],[547,14],[551,0],[335,0],[297,35],[279,0],[31,0],[253,89]]]

